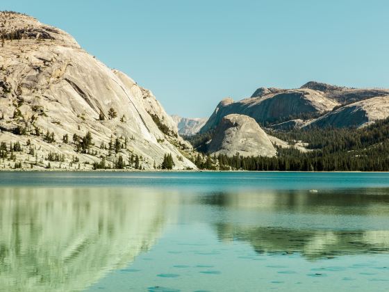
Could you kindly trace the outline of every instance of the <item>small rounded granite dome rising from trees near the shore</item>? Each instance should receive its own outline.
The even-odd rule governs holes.
[[[265,131],[247,115],[231,114],[222,118],[208,145],[210,154],[233,156],[275,156],[276,149]]]

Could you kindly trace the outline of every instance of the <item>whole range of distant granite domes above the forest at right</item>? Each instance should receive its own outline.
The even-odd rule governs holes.
[[[316,81],[310,81],[299,89],[261,87],[250,98],[242,99],[239,102],[233,102],[231,98],[223,99],[204,124],[204,127],[201,128],[200,133],[214,129],[220,123],[222,117],[231,113],[248,115],[260,124],[280,130],[304,127],[305,124],[311,124],[315,119],[322,121],[321,117],[324,118],[324,115],[326,115],[326,125],[359,127],[365,122],[374,122],[374,118],[367,119],[364,114],[354,113],[347,116],[347,122],[339,123],[333,117],[338,115],[338,110],[342,106],[388,95],[388,89],[347,88]],[[383,101],[384,99],[377,100]],[[381,115],[377,115],[374,108],[379,107],[379,105],[376,102],[371,103],[374,106],[365,106],[363,109],[366,115],[379,117],[380,119],[389,117],[386,111]],[[367,102],[367,104],[370,104],[370,102]],[[332,111],[336,111],[336,113],[334,112],[331,115]],[[349,107],[342,110],[343,113],[346,111],[349,111]],[[370,113],[370,111],[372,112]],[[330,119],[327,118],[329,116],[331,116]],[[322,122],[317,122],[315,125],[320,127],[321,124]]]

